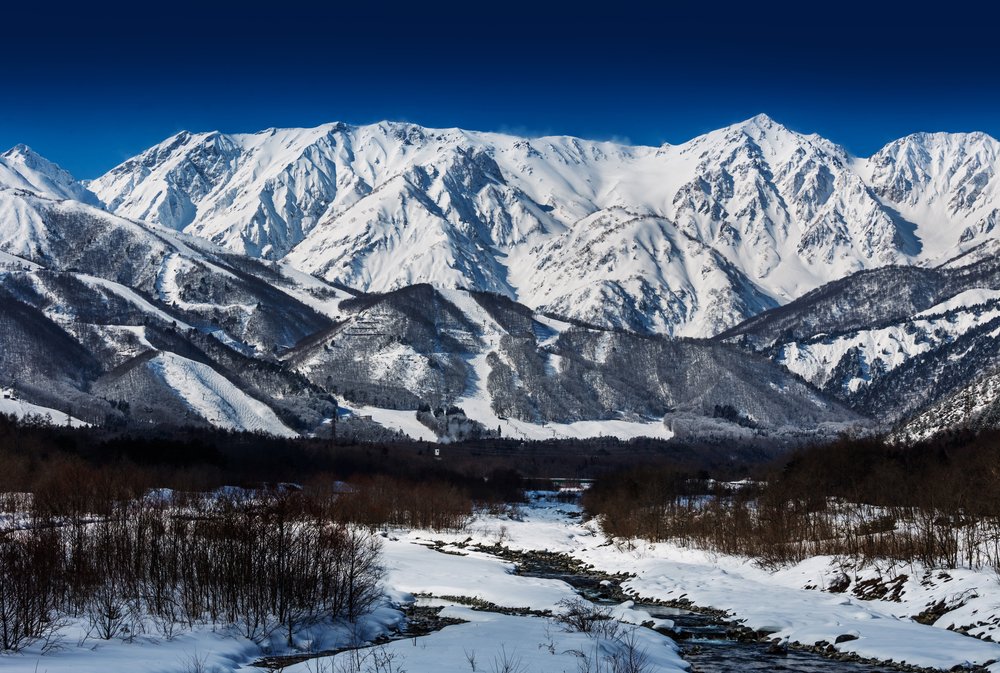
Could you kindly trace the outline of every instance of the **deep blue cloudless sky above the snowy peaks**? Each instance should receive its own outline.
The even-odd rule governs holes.
[[[985,3],[18,4],[0,148],[82,178],[181,129],[334,120],[659,144],[766,112],[861,155],[920,130],[1000,136]]]

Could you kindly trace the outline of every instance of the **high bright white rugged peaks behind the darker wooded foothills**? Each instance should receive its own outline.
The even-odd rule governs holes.
[[[917,134],[860,159],[764,115],[662,147],[337,123],[180,133],[90,188],[112,212],[362,291],[464,287],[708,337],[995,237],[998,149]]]

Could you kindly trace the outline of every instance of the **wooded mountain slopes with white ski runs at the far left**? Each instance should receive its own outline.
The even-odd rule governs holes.
[[[335,413],[330,395],[268,362],[332,324],[296,283],[76,200],[79,186],[26,148],[3,159],[0,385],[88,423],[293,435]]]

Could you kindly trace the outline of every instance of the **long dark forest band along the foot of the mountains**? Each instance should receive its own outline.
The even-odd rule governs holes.
[[[440,450],[436,459],[435,450]],[[203,490],[223,484],[305,481],[315,475],[347,480],[389,475],[421,483],[442,480],[475,500],[518,495],[516,474],[588,478],[637,461],[679,464],[691,471],[739,475],[786,451],[773,439],[731,437],[697,444],[613,437],[585,440],[483,439],[434,445],[396,439],[286,439],[204,427],[151,427],[144,432],[50,425],[0,414],[0,490],[31,490],[47,463],[78,457],[88,465],[142,468],[159,486]]]

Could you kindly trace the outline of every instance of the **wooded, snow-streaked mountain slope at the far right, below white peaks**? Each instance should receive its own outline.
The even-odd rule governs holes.
[[[859,272],[717,340],[769,355],[859,413],[899,426],[898,436],[997,424],[995,413],[980,412],[1000,403],[998,389],[976,383],[1000,374],[997,247],[987,241],[937,267]]]

